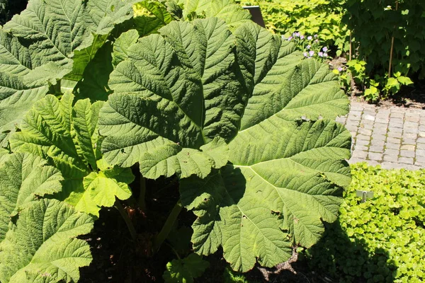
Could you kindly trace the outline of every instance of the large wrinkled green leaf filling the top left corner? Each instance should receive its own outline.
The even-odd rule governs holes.
[[[50,83],[81,79],[114,26],[132,15],[132,1],[30,0],[4,25],[13,35],[0,28],[0,146]]]

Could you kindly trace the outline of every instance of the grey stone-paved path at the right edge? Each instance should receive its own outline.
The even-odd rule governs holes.
[[[353,136],[350,163],[425,168],[425,110],[352,102],[348,115],[336,120]]]

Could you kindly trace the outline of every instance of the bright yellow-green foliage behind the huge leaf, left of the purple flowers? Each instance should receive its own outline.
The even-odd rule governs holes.
[[[244,5],[259,5],[264,21],[273,33],[290,37],[294,32],[319,35],[327,46],[335,46],[337,55],[348,50],[348,29],[341,18],[346,0],[262,0],[241,1]]]

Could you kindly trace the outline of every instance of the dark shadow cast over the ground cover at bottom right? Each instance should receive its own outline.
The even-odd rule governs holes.
[[[336,221],[326,225],[319,243],[298,254],[297,275],[286,271],[270,282],[393,282],[397,267],[389,262],[386,250],[371,250],[363,239],[349,238]]]

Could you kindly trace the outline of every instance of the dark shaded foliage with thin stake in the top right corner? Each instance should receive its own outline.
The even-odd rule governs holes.
[[[347,0],[344,23],[359,42],[358,56],[368,62],[368,73],[385,74],[392,69],[403,76],[424,74],[425,3],[405,0]]]

